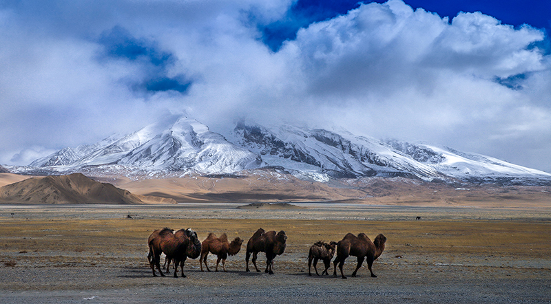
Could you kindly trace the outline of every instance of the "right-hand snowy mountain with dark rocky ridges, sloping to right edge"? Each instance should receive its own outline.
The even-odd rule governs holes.
[[[417,177],[423,180],[457,179],[471,182],[533,183],[551,181],[551,175],[475,153],[463,153],[428,144],[409,144],[293,126],[267,129],[239,122],[231,141],[262,156],[271,166],[282,166],[301,177]],[[539,181],[541,180],[541,181]]]

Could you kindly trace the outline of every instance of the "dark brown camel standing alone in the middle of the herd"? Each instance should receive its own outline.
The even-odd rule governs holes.
[[[273,274],[273,259],[279,255],[283,254],[285,251],[287,241],[287,235],[285,235],[285,232],[281,230],[280,232],[275,234],[275,231],[268,231],[265,232],[264,229],[258,228],[256,232],[254,232],[253,236],[249,239],[247,242],[247,252],[245,254],[245,262],[247,263],[247,268],[245,268],[245,271],[249,270],[249,257],[251,257],[251,253],[253,254],[253,265],[257,272],[260,272],[258,270],[258,267],[256,267],[256,257],[258,255],[258,252],[265,252],[266,253],[266,270],[264,272],[267,272],[268,274]]]

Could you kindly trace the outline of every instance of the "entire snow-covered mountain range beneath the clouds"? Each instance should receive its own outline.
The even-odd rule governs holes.
[[[551,184],[549,173],[488,156],[429,144],[382,141],[347,131],[289,125],[267,128],[238,122],[227,138],[191,118],[173,117],[125,136],[61,149],[29,167],[8,169],[14,173],[174,176],[276,168],[320,182],[380,176]]]

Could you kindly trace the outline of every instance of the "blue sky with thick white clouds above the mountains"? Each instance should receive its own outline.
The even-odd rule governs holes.
[[[551,172],[550,1],[0,3],[0,164],[187,113]]]

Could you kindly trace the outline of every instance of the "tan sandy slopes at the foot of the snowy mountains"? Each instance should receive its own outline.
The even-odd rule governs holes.
[[[307,182],[292,175],[256,171],[249,175],[187,176],[130,180],[97,178],[125,189],[147,204],[201,202],[349,202],[404,206],[481,206],[499,208],[551,207],[549,186],[497,186],[493,184],[442,184],[404,178],[369,177],[357,180]],[[28,179],[0,173],[0,186]],[[147,197],[154,196],[154,197]]]

